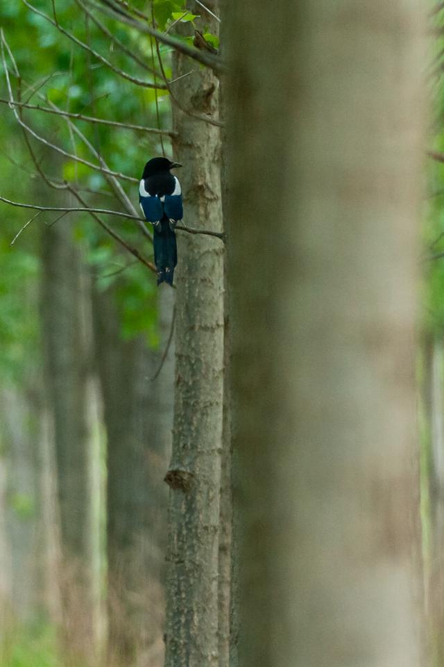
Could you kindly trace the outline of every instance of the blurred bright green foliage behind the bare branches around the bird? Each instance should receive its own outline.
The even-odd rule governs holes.
[[[35,0],[31,4],[54,20],[51,3]],[[134,6],[146,10],[144,2],[135,2]],[[114,67],[136,79],[162,83],[155,44],[147,35],[118,24],[106,15],[94,13],[105,31],[108,30],[114,40],[119,40],[129,53],[133,53],[136,60],[124,52],[118,42],[113,43],[110,36],[85,14],[78,2],[58,0],[56,11],[56,20],[64,30],[92,47]],[[173,24],[179,16],[182,21],[193,21],[196,17],[185,12],[185,2],[182,0],[155,0],[153,12],[156,27],[160,30],[172,28],[173,33]],[[34,13],[24,2],[2,3],[0,19],[22,78],[21,82],[17,81],[11,58],[7,54],[15,99],[18,99],[20,88],[22,100],[35,106],[56,104],[69,113],[82,113],[123,124],[161,128],[171,126],[167,90],[144,88],[122,78],[99,58],[60,33],[49,20]],[[160,45],[160,53],[165,72],[171,76],[170,49]],[[157,71],[155,77],[148,72],[152,67]],[[0,92],[1,97],[7,99],[4,74],[0,63]],[[47,188],[42,187],[24,142],[24,133],[17,125],[12,111],[5,106],[3,112],[0,123],[0,194],[17,201],[60,205],[60,193],[54,191],[52,196],[51,191],[48,194]],[[64,118],[24,109],[23,119],[46,140],[80,158],[96,162],[85,142],[74,134]],[[171,151],[167,136],[161,140],[157,134],[81,121],[76,121],[76,126],[105,158],[111,170],[135,178],[149,157],[162,154],[163,150],[167,153]],[[40,167],[51,178],[70,183],[93,206],[124,210],[103,174],[72,158],[55,155],[34,138],[28,136],[28,139]],[[122,181],[122,186],[137,206],[137,186],[128,186],[126,181]],[[85,190],[89,192],[85,193]],[[6,208],[2,203],[0,207],[3,222],[0,227],[0,372],[18,381],[33,363],[38,362],[35,349],[39,341],[39,229],[42,224],[53,222],[56,216],[44,214],[38,217],[15,245],[10,247],[10,241],[29,216],[27,211],[19,208]],[[155,277],[143,265],[134,264],[130,255],[123,254],[121,248],[97,226],[92,217],[81,214],[76,215],[75,220],[76,237],[88,248],[87,261],[92,266],[99,290],[119,278],[122,335],[131,337],[145,332],[149,343],[156,345]],[[73,218],[69,222],[65,217],[56,224],[73,222]],[[122,222],[121,218],[110,218],[106,222],[146,258],[152,258],[150,245],[133,223]]]

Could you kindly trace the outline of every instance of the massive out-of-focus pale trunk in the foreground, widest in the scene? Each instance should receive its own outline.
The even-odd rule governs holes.
[[[420,661],[422,10],[229,3],[243,667]]]

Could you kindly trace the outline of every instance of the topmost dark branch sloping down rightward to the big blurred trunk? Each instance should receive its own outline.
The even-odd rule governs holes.
[[[25,2],[26,0],[23,1]],[[198,63],[202,63],[203,65],[210,67],[211,69],[214,70],[214,72],[218,74],[222,74],[223,72],[225,72],[225,65],[223,65],[221,59],[216,56],[213,56],[212,53],[207,53],[205,51],[200,51],[199,49],[196,49],[194,47],[190,47],[187,44],[187,42],[182,42],[177,38],[171,37],[170,35],[165,35],[164,33],[161,33],[160,31],[151,28],[150,25],[144,24],[140,21],[133,19],[133,17],[131,17],[128,13],[124,12],[123,10],[120,10],[110,1],[102,0],[100,6],[97,5],[96,3],[92,3],[91,0],[87,0],[87,2],[88,4],[99,9],[104,14],[110,15],[116,21],[120,23],[125,23],[128,26],[135,28],[140,33],[144,33],[145,35],[151,35],[152,37],[159,40],[159,42],[161,42],[162,44],[167,44],[168,47],[172,47],[176,51],[183,53],[184,56],[193,58],[193,60],[197,60]],[[103,6],[103,4],[105,4],[105,7]],[[149,19],[147,20],[149,21]]]

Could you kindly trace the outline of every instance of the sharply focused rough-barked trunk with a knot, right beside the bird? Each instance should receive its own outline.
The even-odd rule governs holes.
[[[216,3],[208,6],[214,13]],[[200,14],[192,1],[189,10]],[[202,22],[217,33],[215,19]],[[184,28],[186,29],[186,28]],[[209,69],[174,55],[173,76],[182,107],[218,114],[218,81]],[[178,133],[174,156],[185,223],[221,231],[219,129],[173,105]],[[176,394],[167,575],[166,667],[218,664],[219,493],[223,413],[223,244],[178,232],[176,295]]]

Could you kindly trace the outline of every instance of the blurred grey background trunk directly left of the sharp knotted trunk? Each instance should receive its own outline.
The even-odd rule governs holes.
[[[122,339],[116,291],[96,293],[94,299],[107,431],[108,653],[112,664],[128,665],[143,652],[149,652],[153,664],[156,652],[160,664],[167,514],[162,481],[167,452],[162,447],[167,438],[157,427],[153,401],[151,377],[158,359],[143,336]],[[171,396],[172,377],[170,384]],[[164,413],[164,428],[171,433],[172,399],[169,425]]]

